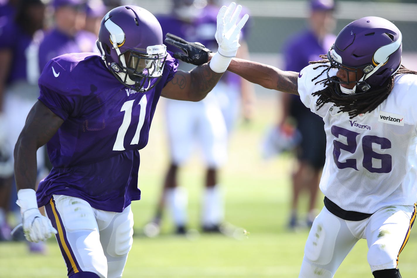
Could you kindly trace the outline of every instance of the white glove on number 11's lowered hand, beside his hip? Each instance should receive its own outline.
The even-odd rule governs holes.
[[[33,189],[20,189],[16,204],[20,207],[22,215],[23,233],[30,242],[45,241],[53,234],[58,233],[48,217],[40,214],[36,192]]]

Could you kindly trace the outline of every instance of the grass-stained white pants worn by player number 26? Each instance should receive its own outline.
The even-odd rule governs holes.
[[[385,207],[362,221],[343,220],[323,207],[307,238],[299,278],[332,278],[361,238],[372,272],[397,268],[415,217],[415,205]]]

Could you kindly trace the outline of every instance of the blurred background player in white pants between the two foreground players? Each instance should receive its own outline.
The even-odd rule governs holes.
[[[195,0],[173,0],[168,15],[157,16],[163,34],[172,33],[188,41],[200,42],[216,52],[216,16],[221,1],[207,3]],[[241,14],[245,14],[242,11]],[[237,57],[247,58],[247,45],[241,32]],[[178,48],[167,45],[172,52]],[[194,66],[180,61],[179,68],[185,71]],[[199,102],[166,100],[166,127],[170,149],[170,162],[166,172],[155,217],[145,226],[146,235],[159,233],[164,207],[171,212],[175,233],[187,231],[188,197],[184,187],[179,186],[178,171],[187,162],[193,147],[201,147],[205,164],[204,190],[201,208],[201,230],[222,232],[224,227],[224,200],[219,182],[219,170],[227,160],[229,132],[239,115],[239,102],[243,103],[244,118],[249,120],[254,102],[253,85],[239,76],[226,72],[210,94]]]

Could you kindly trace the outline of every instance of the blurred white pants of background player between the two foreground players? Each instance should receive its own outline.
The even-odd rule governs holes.
[[[207,167],[219,168],[227,160],[228,134],[216,91],[197,102],[166,99],[166,127],[171,161],[186,163],[194,147],[201,147]]]

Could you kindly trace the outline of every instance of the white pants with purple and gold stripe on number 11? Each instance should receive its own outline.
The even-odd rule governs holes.
[[[68,276],[84,271],[100,278],[122,277],[133,243],[130,205],[123,212],[108,212],[80,198],[53,195],[45,212],[58,231]]]

